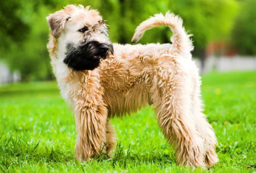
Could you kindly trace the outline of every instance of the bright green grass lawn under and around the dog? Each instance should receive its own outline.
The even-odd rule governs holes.
[[[220,162],[205,172],[256,172],[256,72],[202,77],[205,114]],[[112,159],[74,159],[75,122],[55,82],[0,87],[0,172],[201,172],[175,164],[151,107],[111,120],[118,135]]]

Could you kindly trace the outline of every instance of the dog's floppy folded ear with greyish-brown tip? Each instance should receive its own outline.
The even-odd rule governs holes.
[[[63,30],[66,22],[69,20],[69,14],[67,14],[63,9],[56,11],[46,17],[47,23],[52,31],[52,35],[58,38]]]

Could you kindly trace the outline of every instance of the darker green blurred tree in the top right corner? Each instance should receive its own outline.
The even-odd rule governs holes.
[[[232,30],[231,43],[239,54],[256,55],[256,1],[241,2],[241,13]]]

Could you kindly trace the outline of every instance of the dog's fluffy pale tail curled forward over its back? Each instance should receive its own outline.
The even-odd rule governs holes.
[[[144,34],[145,31],[160,25],[169,26],[173,35],[171,37],[171,42],[173,48],[178,54],[181,53],[190,53],[194,47],[190,39],[189,34],[186,33],[184,27],[182,26],[182,19],[178,16],[175,16],[169,11],[163,15],[155,14],[146,21],[142,22],[135,30],[135,33],[132,38],[132,43],[136,43]]]

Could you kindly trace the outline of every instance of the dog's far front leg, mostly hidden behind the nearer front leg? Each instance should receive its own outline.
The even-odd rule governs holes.
[[[113,150],[115,149],[116,145],[116,132],[115,129],[112,127],[109,120],[106,124],[106,152],[108,154],[108,157],[111,157]]]

